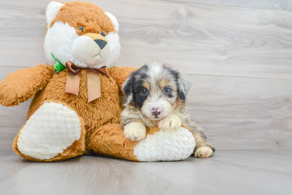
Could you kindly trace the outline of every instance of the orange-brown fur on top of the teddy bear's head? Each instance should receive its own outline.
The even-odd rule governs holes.
[[[100,31],[104,31],[106,34],[112,31],[116,32],[111,19],[104,11],[97,5],[88,2],[66,2],[50,24],[50,27],[56,21],[62,21],[64,24],[67,22],[69,26],[76,29],[78,35],[88,32],[100,34]],[[79,26],[84,27],[83,32],[77,30]]]

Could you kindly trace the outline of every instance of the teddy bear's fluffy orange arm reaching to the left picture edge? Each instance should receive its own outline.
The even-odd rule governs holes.
[[[46,86],[54,72],[51,66],[39,64],[9,73],[0,83],[1,105],[15,106],[32,98]]]

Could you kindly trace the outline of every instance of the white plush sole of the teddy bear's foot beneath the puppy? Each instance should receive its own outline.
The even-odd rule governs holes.
[[[134,156],[147,162],[182,160],[192,154],[195,145],[194,136],[184,127],[160,130],[139,141],[134,147]]]

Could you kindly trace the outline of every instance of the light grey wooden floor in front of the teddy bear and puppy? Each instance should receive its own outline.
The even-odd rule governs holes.
[[[0,150],[1,194],[291,194],[291,151],[219,151],[176,162],[82,156],[54,163]]]

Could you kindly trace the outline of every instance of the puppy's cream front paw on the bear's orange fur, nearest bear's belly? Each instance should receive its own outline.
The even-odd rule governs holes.
[[[142,123],[129,123],[124,126],[124,135],[131,141],[140,141],[146,137],[146,127]]]

